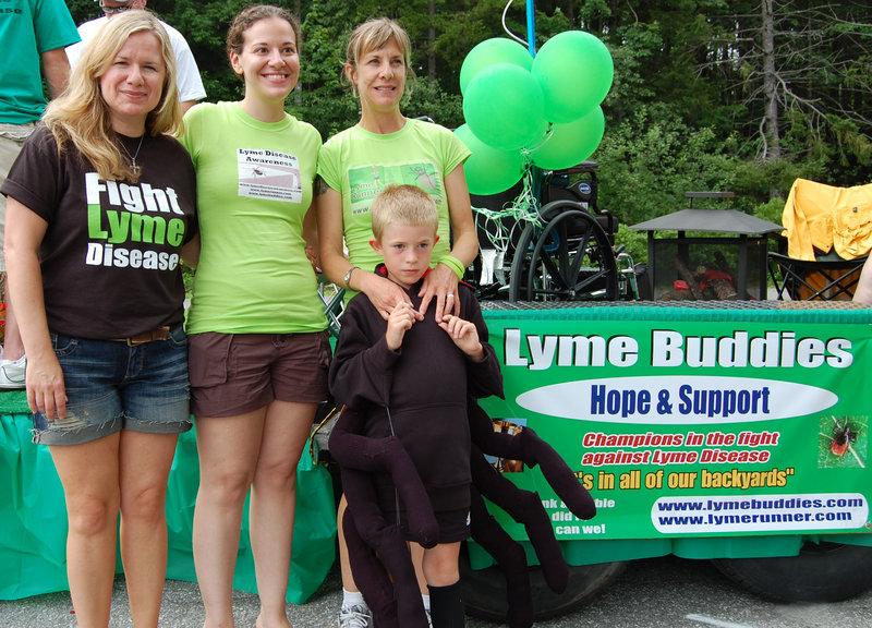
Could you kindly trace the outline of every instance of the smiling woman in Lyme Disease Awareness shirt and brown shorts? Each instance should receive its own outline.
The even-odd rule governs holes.
[[[185,116],[197,172],[202,252],[189,316],[199,492],[193,550],[204,628],[233,625],[233,568],[245,496],[261,628],[286,614],[296,464],[327,397],[327,321],[306,254],[320,135],[284,111],[300,74],[296,20],[250,7],[228,51],[239,102]]]

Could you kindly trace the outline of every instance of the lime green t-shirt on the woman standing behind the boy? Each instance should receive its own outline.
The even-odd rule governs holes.
[[[373,251],[370,205],[391,184],[412,184],[429,192],[439,210],[439,241],[435,266],[450,251],[451,218],[445,178],[470,156],[463,142],[448,129],[407,120],[396,133],[379,135],[360,125],[330,137],[318,155],[318,174],[342,194],[342,224],[349,261],[373,270],[382,257]]]

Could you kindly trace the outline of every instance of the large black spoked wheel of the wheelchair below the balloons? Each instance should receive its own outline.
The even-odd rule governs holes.
[[[528,225],[514,250],[509,301],[616,301],[618,265],[596,218],[569,201],[541,214],[545,226]]]

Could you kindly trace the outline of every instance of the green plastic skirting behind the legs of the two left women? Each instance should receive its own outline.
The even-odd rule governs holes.
[[[31,442],[33,424],[23,391],[0,392],[0,600],[62,591],[66,511],[48,448]],[[169,479],[167,577],[195,581],[191,531],[199,471],[195,432],[179,438]],[[335,559],[336,509],[324,467],[306,452],[296,470],[296,524],[288,602],[302,603],[318,588]],[[246,506],[247,509],[247,506]],[[247,514],[233,587],[256,592]]]

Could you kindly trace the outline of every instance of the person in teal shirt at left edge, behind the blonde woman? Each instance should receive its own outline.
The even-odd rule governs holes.
[[[78,41],[63,0],[0,0],[0,185],[46,108],[43,78],[52,98],[66,88],[70,64],[64,47]],[[0,241],[7,200],[0,194]],[[0,252],[0,295],[7,304],[0,347],[0,389],[24,388],[24,345],[5,290],[7,263]]]

